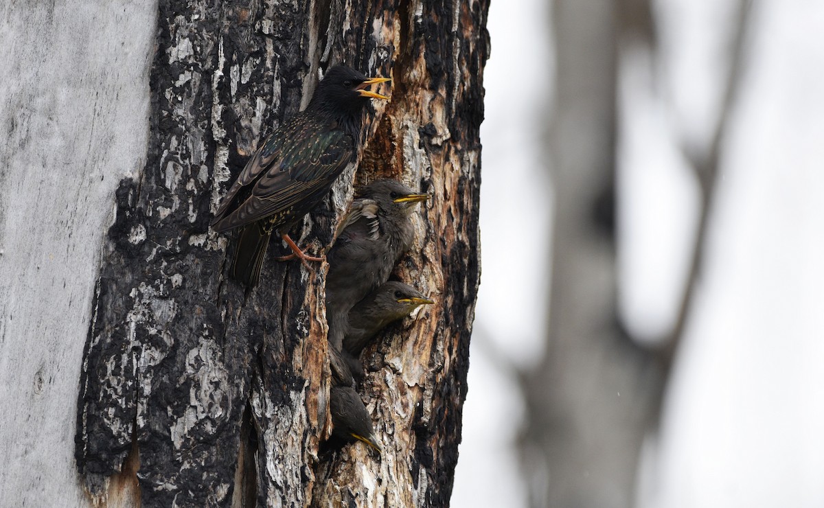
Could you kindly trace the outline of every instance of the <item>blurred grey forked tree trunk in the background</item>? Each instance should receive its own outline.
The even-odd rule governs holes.
[[[669,140],[681,146],[693,170],[699,217],[677,318],[662,337],[642,342],[620,314],[623,230],[616,203],[627,196],[620,193],[616,172],[618,143],[627,137],[622,128],[639,113],[631,100],[639,92],[661,90],[650,72],[661,64],[658,27],[648,0],[555,2],[549,333],[545,356],[522,380],[528,415],[524,467],[545,473],[531,478],[533,506],[632,505],[641,445],[656,430],[693,303],[726,120],[740,91],[747,6],[738,2],[737,9],[728,34],[723,103],[715,125],[708,126],[712,133],[691,146]],[[639,66],[645,66],[640,79],[634,75]]]

